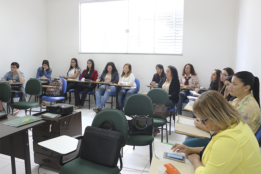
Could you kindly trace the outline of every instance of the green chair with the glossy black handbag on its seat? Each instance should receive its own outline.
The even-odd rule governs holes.
[[[151,99],[143,94],[130,95],[125,102],[124,114],[131,115],[153,115],[153,104]],[[128,135],[127,145],[133,146],[147,146],[150,145],[150,163],[152,159],[152,142],[153,135]],[[123,153],[123,149],[122,149]],[[123,154],[122,154],[123,156]]]

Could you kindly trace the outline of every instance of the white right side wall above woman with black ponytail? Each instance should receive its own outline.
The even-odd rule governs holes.
[[[249,71],[261,80],[261,1],[240,0],[235,71]]]

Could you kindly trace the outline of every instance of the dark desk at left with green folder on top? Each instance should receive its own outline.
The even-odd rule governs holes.
[[[3,124],[16,118],[19,117],[8,115],[0,119],[0,153],[11,156],[12,173],[16,173],[14,157],[23,159],[25,161],[25,173],[31,173],[28,129],[39,126],[46,121],[39,120],[19,127]]]

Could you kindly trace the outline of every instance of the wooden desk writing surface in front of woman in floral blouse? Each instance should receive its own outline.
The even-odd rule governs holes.
[[[175,133],[187,135],[187,136],[191,136],[191,137],[196,137],[196,138],[202,138],[202,139],[205,139],[206,137],[210,138],[210,133],[203,131],[200,128],[197,128],[195,126],[189,126],[186,124],[180,124],[179,117],[195,120],[195,118],[186,117],[186,116],[182,116],[182,115],[176,116],[175,117]]]

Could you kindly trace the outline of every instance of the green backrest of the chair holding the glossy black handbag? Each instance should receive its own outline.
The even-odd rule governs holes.
[[[150,97],[143,94],[130,95],[125,102],[124,114],[153,116],[153,104]]]

